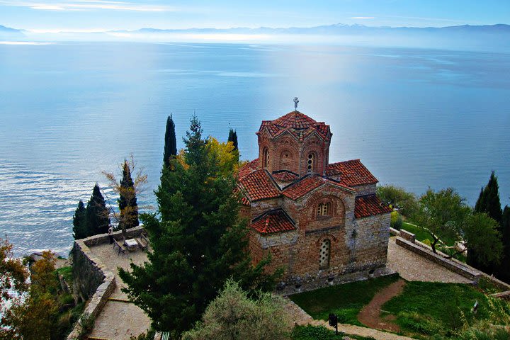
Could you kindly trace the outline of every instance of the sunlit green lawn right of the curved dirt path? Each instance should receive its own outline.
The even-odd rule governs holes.
[[[471,308],[478,301],[477,314]],[[382,306],[394,314],[403,331],[412,334],[451,336],[465,320],[487,319],[492,307],[483,293],[460,283],[408,282],[402,294]]]

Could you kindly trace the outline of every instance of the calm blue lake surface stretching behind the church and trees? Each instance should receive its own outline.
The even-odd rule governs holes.
[[[360,158],[381,183],[415,193],[453,186],[470,204],[496,170],[510,203],[509,54],[0,45],[0,237],[18,255],[67,254],[78,200],[131,153],[149,176],[139,202],[154,204],[167,115],[179,147],[196,112],[206,135],[225,141],[237,129],[242,158],[253,159],[261,120],[292,111],[294,96],[331,125],[331,162]]]

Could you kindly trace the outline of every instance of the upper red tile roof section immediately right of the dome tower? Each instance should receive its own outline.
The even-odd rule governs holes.
[[[329,164],[326,167],[326,176],[337,175],[340,176],[340,182],[346,186],[378,183],[378,180],[365,168],[359,159]]]

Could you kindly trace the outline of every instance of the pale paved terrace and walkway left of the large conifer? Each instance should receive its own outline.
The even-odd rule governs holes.
[[[137,249],[117,255],[117,251],[110,244],[91,246],[90,249],[92,254],[98,256],[108,270],[115,274],[117,286],[110,297],[116,300],[106,302],[89,336],[98,339],[129,340],[132,335],[145,333],[149,329],[150,319],[140,307],[129,302],[128,295],[120,291],[124,283],[118,276],[117,268],[129,269],[131,261],[140,265],[147,260],[147,254]]]

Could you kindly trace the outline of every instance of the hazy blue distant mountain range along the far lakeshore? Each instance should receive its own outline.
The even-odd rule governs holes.
[[[344,25],[290,28],[188,28],[108,30],[105,32],[34,33],[0,26],[0,40],[142,41],[142,42],[276,42],[344,45],[438,47],[510,51],[510,25],[448,27],[373,27]]]

